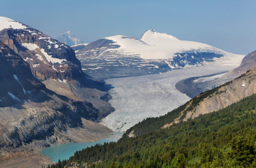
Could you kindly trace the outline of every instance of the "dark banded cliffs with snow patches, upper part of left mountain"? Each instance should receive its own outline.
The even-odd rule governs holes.
[[[2,24],[16,21],[1,18],[0,22]],[[74,50],[41,31],[28,26],[25,29],[8,27],[0,31],[0,41],[26,60],[34,76],[40,81],[68,81],[84,76]]]

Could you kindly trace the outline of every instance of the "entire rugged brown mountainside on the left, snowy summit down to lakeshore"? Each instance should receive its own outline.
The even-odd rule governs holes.
[[[104,84],[86,77],[70,46],[0,17],[0,54],[0,167],[47,165],[45,147],[112,133],[97,123],[114,110]]]

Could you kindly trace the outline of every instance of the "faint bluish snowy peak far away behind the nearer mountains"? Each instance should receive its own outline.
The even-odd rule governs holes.
[[[83,44],[84,42],[80,39],[77,39],[73,32],[67,31],[56,38],[61,43],[72,46],[77,44]]]

